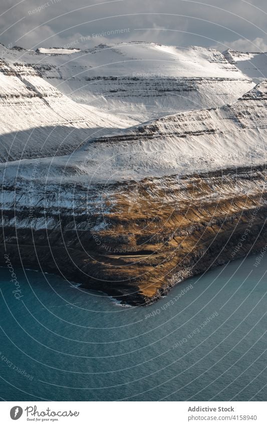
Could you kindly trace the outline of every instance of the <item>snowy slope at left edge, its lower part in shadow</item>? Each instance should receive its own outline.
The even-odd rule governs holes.
[[[77,104],[31,66],[0,61],[0,161],[71,153],[92,135],[130,123]]]

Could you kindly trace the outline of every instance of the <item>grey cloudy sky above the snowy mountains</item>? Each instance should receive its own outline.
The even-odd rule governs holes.
[[[0,42],[6,46],[83,49],[131,40],[267,51],[267,5],[265,0],[1,0]]]

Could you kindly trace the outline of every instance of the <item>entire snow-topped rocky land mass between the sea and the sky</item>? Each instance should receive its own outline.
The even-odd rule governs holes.
[[[135,50],[132,59],[128,51],[123,56],[121,45],[118,52],[101,46],[71,55],[18,48],[7,53],[0,73],[1,141],[6,149],[2,156],[7,158],[8,150],[9,159],[20,158],[22,152],[25,155],[23,161],[0,164],[0,247],[9,252],[14,265],[60,273],[88,289],[142,305],[158,299],[185,277],[266,244],[267,82],[255,86],[214,50],[191,48],[182,58],[181,50],[173,47],[132,46],[139,49],[139,59]],[[140,56],[142,49],[146,58]],[[109,68],[105,56],[101,57],[104,52],[111,55]],[[169,59],[162,62],[162,54]],[[82,89],[85,80],[72,74],[73,61],[81,70],[83,55],[87,57],[85,74],[91,70],[89,58],[94,76],[86,81],[96,84],[99,92],[88,90],[87,83]],[[135,63],[135,73],[141,73],[149,58],[155,70],[165,64],[164,76],[172,74],[157,76],[155,81],[165,87],[161,97],[166,102],[172,100],[170,81],[175,80],[179,88],[182,81],[187,85],[187,97],[180,108],[176,104],[179,111],[164,115],[158,104],[156,119],[136,123],[149,115],[155,101],[154,89],[152,95],[147,91],[149,108],[144,104],[146,92],[140,94],[143,84],[154,87],[147,76],[123,80],[120,74],[125,90],[135,81],[136,99],[126,95],[122,100],[118,92],[111,92],[115,93],[111,101],[105,97],[105,84],[109,90],[118,84],[114,73],[119,57],[124,58],[120,67],[128,74],[128,62]],[[106,76],[97,78],[102,68]],[[173,75],[174,70],[180,77]],[[77,89],[77,99],[84,96],[83,105],[75,102],[73,93],[72,98],[67,96],[71,84],[71,92]],[[227,92],[222,97],[216,93],[220,84]],[[59,91],[61,86],[66,93]],[[245,87],[250,90],[244,93]],[[182,112],[193,93],[201,97],[202,109]],[[204,96],[215,105],[203,108]],[[221,105],[228,98],[232,101]],[[106,109],[117,105],[124,114],[113,115],[104,107],[87,105],[92,99],[100,99]],[[170,103],[170,109],[174,106]],[[76,137],[67,140],[64,149],[63,123],[68,134]],[[55,135],[47,143],[48,126]],[[105,129],[99,136],[101,126]],[[27,135],[32,130],[28,145]]]

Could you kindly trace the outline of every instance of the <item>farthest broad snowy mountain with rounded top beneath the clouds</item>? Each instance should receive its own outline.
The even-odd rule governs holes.
[[[5,60],[30,64],[79,103],[139,122],[220,106],[253,87],[250,78],[215,49],[131,42],[73,52],[14,47],[6,50]]]

